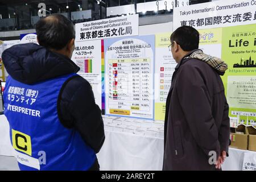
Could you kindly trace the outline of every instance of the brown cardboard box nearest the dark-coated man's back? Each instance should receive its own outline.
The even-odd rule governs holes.
[[[236,133],[232,133],[232,132],[234,131],[231,130],[230,132],[230,140],[231,140],[230,147],[247,150],[248,149],[247,127],[245,125],[239,125],[235,130]]]

